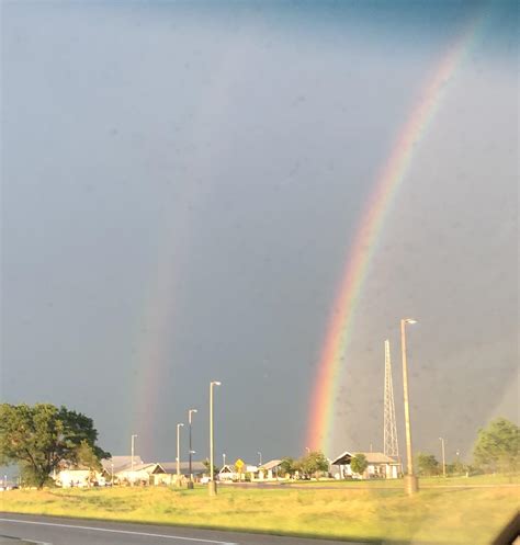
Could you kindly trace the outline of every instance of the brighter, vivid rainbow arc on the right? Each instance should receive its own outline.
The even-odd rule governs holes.
[[[328,453],[330,449],[335,405],[341,383],[341,361],[350,344],[360,295],[385,218],[414,159],[414,147],[425,137],[439,110],[446,83],[470,52],[482,21],[482,14],[472,20],[427,81],[421,99],[398,135],[361,216],[319,359],[305,443],[313,450]]]

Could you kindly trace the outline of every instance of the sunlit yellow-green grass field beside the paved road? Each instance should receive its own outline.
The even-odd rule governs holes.
[[[487,544],[519,503],[518,488],[319,490],[221,487],[12,490],[1,496],[10,512],[334,537]]]

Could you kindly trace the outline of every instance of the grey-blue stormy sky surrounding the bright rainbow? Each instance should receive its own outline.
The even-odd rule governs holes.
[[[518,422],[516,2],[2,3],[1,395],[172,461],[305,452],[349,248],[425,81],[482,30],[377,237],[331,452],[383,447],[384,339],[404,451],[471,457]],[[183,435],[184,444],[185,438]]]

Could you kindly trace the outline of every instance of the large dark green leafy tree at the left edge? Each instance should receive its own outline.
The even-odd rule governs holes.
[[[76,465],[89,450],[110,457],[95,442],[92,419],[50,404],[0,405],[0,464],[18,464],[25,480],[42,488],[64,463]]]

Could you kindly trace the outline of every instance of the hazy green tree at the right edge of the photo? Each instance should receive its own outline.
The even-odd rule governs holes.
[[[478,430],[473,450],[475,464],[485,472],[517,472],[520,462],[520,428],[505,418]]]

